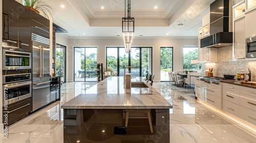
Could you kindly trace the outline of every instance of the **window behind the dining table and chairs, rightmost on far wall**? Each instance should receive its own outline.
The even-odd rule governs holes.
[[[191,64],[191,60],[198,59],[197,46],[183,47],[183,70],[198,70],[198,64]]]

